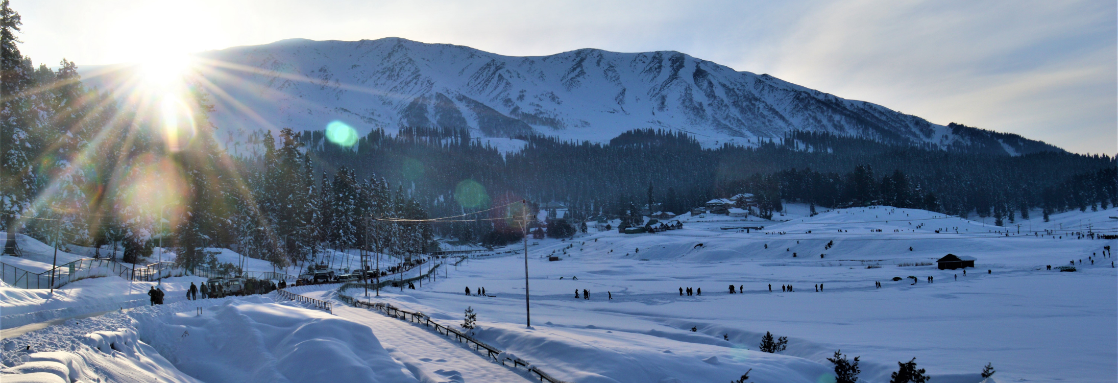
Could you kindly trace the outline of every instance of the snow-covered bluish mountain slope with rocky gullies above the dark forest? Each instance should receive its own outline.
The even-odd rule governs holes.
[[[1015,134],[934,124],[678,52],[513,57],[382,38],[288,39],[198,56],[215,87],[212,120],[234,150],[263,128],[321,130],[335,120],[362,134],[413,125],[607,142],[656,128],[692,133],[705,146],[748,146],[804,130],[1010,155],[1060,150]]]

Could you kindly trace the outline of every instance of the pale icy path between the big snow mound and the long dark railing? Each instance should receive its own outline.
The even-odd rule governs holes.
[[[329,293],[311,291],[302,295],[328,300]],[[339,317],[372,328],[389,355],[404,363],[421,382],[534,382],[423,326],[338,301],[334,301],[333,311]]]

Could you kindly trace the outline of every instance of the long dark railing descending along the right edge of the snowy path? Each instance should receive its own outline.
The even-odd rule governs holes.
[[[349,284],[349,283],[347,283],[347,284]],[[345,301],[345,302],[348,302],[350,305],[353,305],[353,307],[366,308],[366,309],[371,309],[371,310],[378,310],[378,311],[381,311],[383,315],[392,317],[392,318],[402,319],[402,320],[407,320],[407,321],[416,323],[416,324],[421,324],[421,325],[424,325],[425,327],[428,327],[428,328],[434,327],[435,333],[438,333],[439,335],[443,335],[443,336],[446,336],[446,337],[449,337],[451,335],[454,335],[454,339],[455,340],[457,340],[459,344],[461,343],[465,343],[466,347],[470,347],[471,345],[473,345],[474,346],[474,351],[477,352],[477,353],[482,353],[482,349],[484,348],[485,349],[484,351],[485,356],[489,357],[489,358],[492,358],[493,362],[501,363],[502,366],[509,366],[509,365],[505,364],[505,361],[511,361],[512,362],[512,368],[513,370],[515,370],[518,367],[528,367],[528,366],[531,365],[531,363],[528,363],[524,359],[521,359],[519,357],[517,357],[517,358],[501,357],[501,354],[503,354],[503,352],[500,348],[490,346],[490,345],[485,344],[484,342],[477,340],[476,338],[470,336],[468,334],[459,331],[456,328],[448,327],[446,325],[443,325],[443,324],[439,324],[437,321],[434,321],[434,320],[430,319],[429,316],[427,316],[427,315],[425,315],[423,312],[406,311],[406,310],[401,310],[401,309],[395,308],[391,305],[381,303],[381,302],[372,303],[372,302],[361,301],[359,299],[356,299],[353,297],[349,297],[349,296],[342,293],[342,291],[344,291],[344,290],[345,290],[345,284],[342,284],[342,287],[340,287],[338,289],[338,291],[339,291],[338,292],[338,297],[342,301]],[[558,380],[555,376],[551,376],[550,374],[548,374],[548,373],[546,373],[543,371],[540,371],[540,368],[536,367],[536,366],[532,366],[532,367],[528,368],[528,373],[530,375],[531,374],[536,374],[536,376],[540,379],[540,382],[547,381],[549,383],[568,383],[568,382]]]

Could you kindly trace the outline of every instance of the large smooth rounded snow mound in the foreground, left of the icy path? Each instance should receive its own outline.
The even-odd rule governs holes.
[[[417,382],[372,330],[288,303],[236,301],[146,330],[160,354],[205,382]]]

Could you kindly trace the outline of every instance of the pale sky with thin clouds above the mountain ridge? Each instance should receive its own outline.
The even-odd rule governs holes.
[[[313,4],[309,4],[313,3]],[[142,59],[285,38],[404,37],[503,55],[679,50],[935,123],[1118,152],[1106,1],[12,0],[37,62]]]

